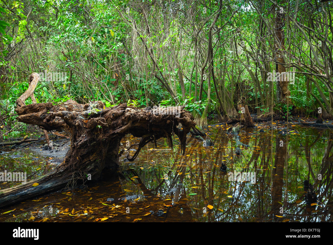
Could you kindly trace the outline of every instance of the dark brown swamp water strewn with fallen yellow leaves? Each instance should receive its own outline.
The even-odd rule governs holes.
[[[149,144],[134,162],[120,158],[119,175],[103,175],[89,187],[7,207],[0,210],[0,221],[332,221],[331,130],[289,125],[291,132],[283,135],[279,130],[260,133],[262,127],[245,129],[240,141],[249,147],[240,146],[238,155],[235,137],[226,134],[228,127],[206,130],[214,142],[211,147],[188,136],[184,156],[176,142],[173,154],[166,140],[158,141],[165,146],[157,149]],[[122,143],[127,148],[136,142],[128,136]],[[15,150],[0,155],[0,171],[27,172],[29,180],[55,168],[54,160]],[[226,172],[220,170],[222,164]],[[238,172],[243,179],[235,181]],[[317,200],[305,199],[305,179],[313,184]]]

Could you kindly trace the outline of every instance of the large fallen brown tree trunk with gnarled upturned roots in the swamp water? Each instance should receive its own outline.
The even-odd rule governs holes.
[[[39,74],[32,73],[29,81],[38,81]],[[119,164],[121,139],[131,133],[141,137],[140,149],[161,137],[172,147],[172,134],[179,137],[182,154],[185,153],[186,135],[195,127],[194,118],[184,107],[169,107],[163,113],[158,109],[138,109],[126,103],[105,108],[101,101],[78,104],[74,100],[53,105],[51,102],[24,105],[22,100],[33,94],[29,89],[17,100],[17,120],[38,125],[44,130],[64,129],[70,135],[71,148],[64,161],[52,172],[19,186],[0,191],[0,207],[24,201],[38,195],[74,187],[89,180],[97,180],[103,169],[116,168]],[[27,94],[26,94],[27,93]],[[22,99],[23,98],[23,99]],[[182,128],[177,126],[181,124]],[[37,186],[33,186],[38,183]]]

